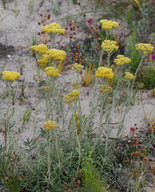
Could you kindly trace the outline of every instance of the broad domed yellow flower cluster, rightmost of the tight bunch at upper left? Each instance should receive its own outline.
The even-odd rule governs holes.
[[[46,52],[50,56],[50,58],[53,58],[55,60],[64,61],[66,59],[66,53],[65,51],[59,50],[59,49],[50,49]]]

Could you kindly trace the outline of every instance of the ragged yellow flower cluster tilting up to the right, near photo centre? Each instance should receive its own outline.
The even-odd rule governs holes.
[[[72,101],[77,100],[80,94],[81,92],[78,89],[76,89],[67,95],[61,95],[61,97],[63,97],[65,99],[64,102],[68,104],[68,103],[71,103]]]

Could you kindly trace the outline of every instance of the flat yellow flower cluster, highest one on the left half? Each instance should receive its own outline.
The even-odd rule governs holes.
[[[42,27],[42,30],[46,33],[65,33],[65,29],[61,29],[58,23],[50,23]]]

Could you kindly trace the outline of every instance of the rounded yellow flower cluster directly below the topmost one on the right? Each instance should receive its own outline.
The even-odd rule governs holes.
[[[110,53],[119,48],[116,41],[110,41],[110,40],[104,40],[102,42],[101,47],[103,48],[104,51],[107,51]]]

